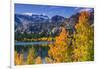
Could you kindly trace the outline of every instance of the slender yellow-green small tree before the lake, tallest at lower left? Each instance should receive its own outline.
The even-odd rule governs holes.
[[[29,49],[29,53],[27,56],[27,64],[34,64],[34,60],[35,60],[35,54],[34,54],[34,48],[30,48]]]

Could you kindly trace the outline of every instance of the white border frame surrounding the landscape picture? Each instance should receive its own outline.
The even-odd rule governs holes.
[[[54,0],[53,0],[54,1]],[[56,0],[58,1],[58,0]],[[65,1],[65,0],[64,0]],[[10,66],[12,69],[47,69],[48,67],[50,69],[57,67],[59,68],[59,66],[68,66],[67,68],[70,68],[69,66],[73,66],[73,65],[80,65],[80,66],[83,66],[83,65],[91,65],[91,64],[95,64],[96,62],[71,62],[71,63],[57,63],[57,64],[37,64],[37,65],[17,65],[15,66],[14,65],[14,4],[15,3],[21,3],[21,4],[36,4],[36,5],[53,5],[53,6],[69,6],[69,7],[89,7],[89,8],[94,8],[94,14],[95,14],[95,6],[93,4],[89,4],[89,5],[84,5],[83,3],[79,2],[79,3],[72,3],[72,1],[70,2],[51,2],[51,1],[47,1],[47,2],[42,2],[42,1],[32,1],[32,0],[15,0],[15,1],[12,1],[11,2],[11,50],[10,50],[10,53],[11,53],[11,63],[10,63]],[[86,3],[86,2],[85,2]],[[94,21],[95,23],[95,21]],[[94,44],[95,45],[95,44]],[[95,46],[94,46],[94,49],[95,49]],[[95,59],[94,59],[95,60]],[[66,65],[67,64],[67,65]],[[49,69],[48,68],[48,69]],[[66,68],[66,67],[65,67]],[[72,67],[74,68],[74,66]],[[81,68],[81,67],[80,67]],[[60,68],[61,69],[61,68]]]

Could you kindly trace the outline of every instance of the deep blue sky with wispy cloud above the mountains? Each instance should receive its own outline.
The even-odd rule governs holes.
[[[34,5],[34,4],[15,4],[14,7],[15,7],[15,13],[17,14],[47,15],[50,18],[55,15],[60,15],[68,18],[77,12],[93,10],[93,8],[85,8],[85,7],[50,6],[50,5]]]

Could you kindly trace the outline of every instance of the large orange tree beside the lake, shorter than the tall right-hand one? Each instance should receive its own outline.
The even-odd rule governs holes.
[[[68,61],[68,33],[64,27],[61,27],[61,33],[56,37],[55,43],[49,45],[48,54],[54,59],[54,62]]]

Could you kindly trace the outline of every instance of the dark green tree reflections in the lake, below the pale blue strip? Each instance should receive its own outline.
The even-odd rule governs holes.
[[[44,63],[45,61],[43,59],[45,59],[45,57],[48,56],[49,46],[44,46],[44,45],[15,46],[15,51],[17,51],[19,54],[23,54],[24,62],[26,62],[29,49],[32,47],[34,48],[35,57],[37,58],[38,56],[40,56],[42,62]]]

